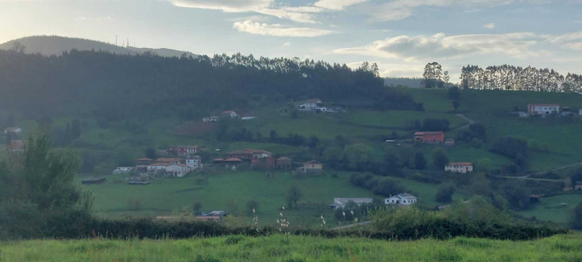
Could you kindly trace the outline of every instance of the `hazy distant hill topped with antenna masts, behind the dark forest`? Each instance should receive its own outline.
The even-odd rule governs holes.
[[[136,48],[136,47],[118,47],[109,43],[104,43],[95,40],[83,39],[83,38],[70,38],[61,36],[30,36],[23,37],[15,40],[10,40],[6,43],[0,44],[0,49],[10,49],[13,47],[15,41],[20,42],[20,44],[26,47],[25,52],[36,53],[40,52],[43,55],[61,55],[64,51],[70,51],[70,49],[76,48],[78,50],[91,50],[95,51],[109,51],[115,52],[117,54],[141,54],[144,51],[154,51],[161,56],[180,56],[185,51],[173,50],[168,48]],[[196,58],[198,55],[191,52],[185,52],[188,55]]]

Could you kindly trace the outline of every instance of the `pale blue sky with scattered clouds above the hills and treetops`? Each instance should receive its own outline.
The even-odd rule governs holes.
[[[420,77],[441,63],[582,73],[582,0],[0,0],[0,43],[81,37],[194,54],[378,63]],[[135,43],[135,44],[134,44]]]

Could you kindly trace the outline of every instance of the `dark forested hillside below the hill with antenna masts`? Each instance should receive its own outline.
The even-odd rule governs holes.
[[[253,56],[166,58],[103,51],[61,56],[0,51],[0,109],[71,112],[120,119],[150,112],[202,116],[222,108],[318,97],[363,101],[378,109],[418,109],[410,95],[386,88],[377,68]]]

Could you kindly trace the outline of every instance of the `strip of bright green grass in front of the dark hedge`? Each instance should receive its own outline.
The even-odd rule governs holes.
[[[0,261],[580,261],[582,236],[413,242],[315,236],[0,243]]]

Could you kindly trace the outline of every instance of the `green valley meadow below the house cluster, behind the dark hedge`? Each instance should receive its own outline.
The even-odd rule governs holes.
[[[184,178],[153,180],[149,185],[127,185],[125,176],[107,175],[108,180],[98,185],[83,185],[95,196],[95,210],[103,217],[155,217],[170,215],[173,210],[192,207],[200,202],[203,211],[228,210],[227,201],[233,201],[239,212],[249,213],[247,202],[257,200],[257,216],[261,225],[275,224],[279,210],[287,206],[286,192],[290,186],[297,186],[303,192],[298,201],[298,208],[288,208],[286,215],[293,224],[305,226],[320,225],[320,215],[325,215],[328,225],[333,227],[338,222],[333,218],[333,210],[328,204],[334,197],[371,197],[381,199],[370,190],[353,186],[349,182],[349,172],[325,172],[324,176],[310,176],[303,179],[293,178],[290,172],[273,172],[273,178],[264,176],[264,172],[235,171],[209,175],[209,185],[197,185],[197,174]],[[397,180],[404,188],[418,194],[419,204],[434,208],[439,203],[434,201],[437,186],[407,179]],[[462,195],[453,197],[462,199]],[[141,210],[134,210],[128,205],[130,200],[140,200]],[[247,217],[247,219],[250,219]]]

